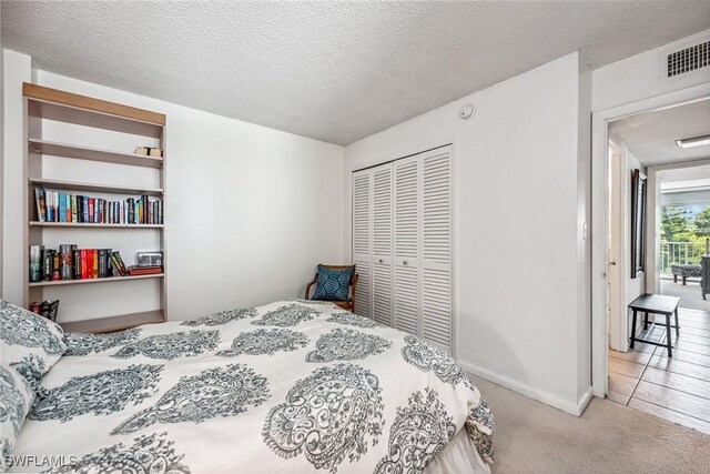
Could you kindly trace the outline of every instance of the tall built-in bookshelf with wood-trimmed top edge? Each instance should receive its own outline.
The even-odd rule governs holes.
[[[83,288],[85,284],[93,283],[104,283],[111,285],[122,282],[158,281],[160,282],[159,309],[138,313],[115,314],[105,317],[85,319],[83,321],[64,322],[62,321],[63,319],[60,304],[58,322],[64,327],[65,331],[99,333],[120,331],[141,324],[160,323],[165,321],[168,255],[165,249],[164,206],[162,208],[163,223],[161,224],[43,222],[38,216],[34,200],[34,189],[41,186],[48,190],[69,191],[70,193],[85,192],[110,195],[118,194],[126,196],[156,196],[159,199],[162,199],[164,204],[166,157],[165,115],[158,112],[136,109],[114,102],[108,102],[85,95],[79,95],[30,83],[23,84],[23,95],[26,103],[24,139],[27,140],[27,152],[24,154],[24,172],[27,182],[24,215],[27,216],[28,223],[24,230],[24,261],[29,262],[29,246],[44,244],[44,232],[51,232],[55,229],[61,229],[62,233],[67,233],[67,242],[70,242],[72,240],[72,236],[79,235],[75,234],[75,232],[81,230],[80,232],[97,233],[97,240],[100,240],[108,246],[112,245],[112,235],[116,235],[112,233],[113,231],[143,230],[145,232],[158,232],[160,234],[160,250],[163,252],[163,273],[149,275],[30,282],[29,265],[26,265],[26,306],[29,307],[31,302],[42,301],[43,292],[49,289],[59,290],[64,288]],[[83,144],[64,143],[63,141],[48,140],[42,137],[42,124],[45,123],[44,120],[89,127],[97,130],[97,137],[100,137],[99,133],[102,133],[101,131],[111,131],[145,137],[153,140],[156,139],[159,143],[158,148],[160,148],[163,153],[162,157],[150,157],[126,152],[125,150],[111,150],[110,147],[106,147],[104,149],[101,147],[88,147]],[[93,142],[97,140],[94,140]],[[142,143],[135,143],[135,145],[142,145]],[[158,184],[155,186],[145,186],[142,184],[131,185],[130,183],[128,185],[115,185],[101,182],[92,182],[91,180],[69,181],[48,178],[42,173],[42,163],[44,160],[44,155],[59,157],[61,159],[88,160],[99,163],[112,163],[123,167],[153,169],[159,173],[159,183],[155,183]],[[132,177],[133,174],[130,173],[130,175]],[[131,235],[134,234],[131,233]],[[136,239],[139,239],[139,235],[143,234],[135,234]],[[150,238],[149,241],[154,242],[154,236]],[[75,294],[72,297],[75,297]],[[120,306],[120,303],[118,304],[118,306]]]

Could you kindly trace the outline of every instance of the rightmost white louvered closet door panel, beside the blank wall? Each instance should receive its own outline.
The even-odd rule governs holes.
[[[423,153],[422,336],[452,351],[450,147]]]

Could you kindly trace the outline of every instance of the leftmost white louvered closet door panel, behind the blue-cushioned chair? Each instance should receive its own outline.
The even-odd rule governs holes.
[[[372,314],[372,173],[353,173],[353,263],[358,274],[355,289],[355,313]]]

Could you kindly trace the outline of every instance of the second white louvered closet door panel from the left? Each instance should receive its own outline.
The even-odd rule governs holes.
[[[392,163],[373,173],[373,317],[394,325],[392,305]]]

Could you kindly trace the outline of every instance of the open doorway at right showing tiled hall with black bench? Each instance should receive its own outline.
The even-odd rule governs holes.
[[[710,97],[627,114],[605,125],[606,395],[710,433],[710,301],[703,301],[700,291],[700,263],[706,254],[710,266]],[[704,145],[677,143],[703,135],[708,135]],[[633,261],[633,225],[628,218],[635,171],[648,175],[643,265],[629,261]],[[637,343],[635,350],[628,350],[633,330],[650,342],[665,343],[667,337],[666,327],[652,324],[653,316],[647,327],[641,319],[636,329],[629,327],[626,306],[643,293],[683,302],[680,335],[669,335],[672,357],[666,347],[651,344]]]

